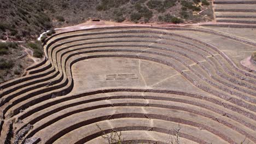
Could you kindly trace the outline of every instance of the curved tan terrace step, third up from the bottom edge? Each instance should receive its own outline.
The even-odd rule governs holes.
[[[229,142],[231,142],[232,140],[240,141],[241,139],[244,139],[244,137],[242,135],[236,133],[235,131],[233,131],[231,129],[224,128],[223,125],[219,125],[218,122],[209,121],[208,119],[200,117],[200,116],[189,117],[188,115],[191,115],[191,114],[189,114],[187,112],[173,111],[173,110],[169,110],[167,112],[167,111],[165,111],[165,109],[159,109],[159,108],[153,108],[153,107],[143,107],[143,109],[142,109],[141,107],[136,107],[136,106],[135,107],[119,107],[119,106],[116,107],[116,106],[114,106],[114,107],[110,107],[110,108],[104,108],[104,110],[97,109],[97,110],[91,110],[88,112],[80,112],[80,113],[73,115],[72,118],[70,117],[70,118],[61,119],[60,121],[55,122],[54,124],[51,124],[51,127],[44,128],[43,131],[45,131],[45,130],[48,131],[47,129],[49,129],[49,128],[51,129],[47,135],[45,135],[45,133],[43,134],[43,131],[39,131],[38,133],[36,133],[33,136],[40,136],[42,138],[43,143],[48,143],[48,142],[52,143],[55,140],[57,140],[59,137],[69,133],[69,131],[75,130],[79,127],[83,127],[83,125],[88,125],[90,123],[97,123],[97,121],[102,121],[103,119],[105,119],[105,117],[106,117],[106,120],[107,120],[107,117],[109,117],[109,116],[113,116],[113,118],[115,118],[115,116],[117,116],[118,118],[127,117],[127,116],[135,117],[135,118],[142,118],[142,117],[144,117],[143,113],[145,113],[145,111],[147,112],[146,114],[149,117],[151,117],[151,119],[160,119],[160,120],[162,119],[165,121],[174,121],[174,122],[180,121],[180,123],[182,123],[182,124],[188,124],[187,121],[191,121],[191,123],[188,125],[196,126],[196,127],[201,126],[204,129],[210,130],[212,133],[214,133],[215,135],[218,135],[220,137],[223,137],[222,134],[223,135],[229,134],[228,136],[224,136],[225,138],[223,137],[223,139],[225,139]],[[119,117],[119,115],[121,117]],[[170,117],[166,117],[166,115],[170,116]],[[162,117],[162,116],[164,116],[164,117]],[[174,118],[171,118],[173,116],[174,116]],[[100,120],[100,117],[102,117],[101,120]],[[178,117],[178,119],[181,119],[181,120],[178,120],[175,117]],[[167,120],[168,118],[170,118],[170,120]],[[95,120],[98,119],[98,120],[91,121],[89,119],[95,119]],[[91,121],[91,122],[88,123],[86,121]],[[197,124],[194,125],[195,123],[193,123],[193,122],[199,124],[200,126]],[[78,125],[78,123],[81,123],[81,124],[79,124],[79,127],[75,126],[75,125]],[[203,126],[206,123],[208,123],[207,127]],[[210,123],[211,123],[211,125],[209,125]],[[63,127],[64,124],[65,124],[65,126]],[[66,130],[64,130],[64,129],[66,129]],[[217,131],[219,131],[219,132],[217,132]],[[222,132],[220,132],[220,131],[222,131]],[[220,134],[220,133],[222,133],[222,134]],[[53,138],[51,138],[51,137],[53,137]],[[50,141],[48,141],[48,140],[50,140]]]

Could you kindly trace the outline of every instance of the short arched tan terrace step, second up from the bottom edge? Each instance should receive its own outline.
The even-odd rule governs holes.
[[[126,131],[134,130],[138,131],[141,133],[147,133],[148,128],[152,128],[152,131],[150,132],[150,135],[148,137],[154,137],[155,133],[158,132],[159,135],[162,135],[161,139],[162,142],[168,141],[168,136],[170,135],[170,140],[173,139],[173,132],[172,129],[177,128],[178,125],[177,123],[173,122],[166,122],[166,121],[161,121],[158,119],[146,119],[146,118],[120,118],[120,119],[110,119],[108,121],[102,121],[97,123],[98,126],[104,131],[107,129],[114,129],[117,131],[121,131],[121,134],[125,133]],[[121,125],[121,127],[120,127]],[[217,140],[218,138],[215,135],[212,135],[211,133],[204,133],[203,130],[200,130],[200,128],[197,127],[190,127],[189,125],[184,125],[180,124],[179,127],[182,128],[181,130],[181,137],[183,139],[190,140],[190,137],[194,137],[194,142],[200,142],[200,141],[205,141],[210,143],[213,140]],[[90,131],[86,130],[90,129]],[[63,143],[63,142],[68,142],[68,143],[90,143],[92,141],[96,142],[98,136],[97,133],[100,130],[96,127],[95,124],[89,124],[84,127],[81,127],[79,129],[76,129],[74,131],[71,131],[70,133],[62,136],[60,139],[55,141],[54,143]],[[153,133],[152,133],[153,132]],[[79,134],[79,135],[78,135]],[[135,138],[137,133],[131,133],[131,136]],[[152,135],[153,134],[153,135]],[[189,136],[190,135],[190,136]],[[206,139],[202,138],[200,135],[207,135]],[[70,139],[70,136],[76,139]],[[123,135],[125,137],[125,135]],[[164,137],[165,136],[165,137]],[[167,137],[166,137],[167,136]],[[183,137],[184,136],[184,137]],[[69,137],[69,138],[68,138]],[[95,139],[92,139],[92,137],[96,137]],[[125,137],[126,138],[126,137]],[[139,137],[133,139],[142,139],[141,134],[139,134]],[[143,140],[143,139],[142,139]],[[160,140],[156,138],[155,140]],[[190,140],[191,142],[193,141]],[[217,140],[218,143],[226,143],[225,141],[222,140]]]

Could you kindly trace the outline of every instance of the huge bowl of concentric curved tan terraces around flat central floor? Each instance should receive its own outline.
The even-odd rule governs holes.
[[[256,43],[189,26],[59,32],[2,83],[2,143],[256,142]],[[99,129],[100,127],[100,129]]]

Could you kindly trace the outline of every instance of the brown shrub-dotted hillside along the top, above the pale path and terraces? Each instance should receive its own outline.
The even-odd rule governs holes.
[[[0,2],[0,39],[25,40],[88,19],[136,23],[210,21],[207,0],[14,0]]]

